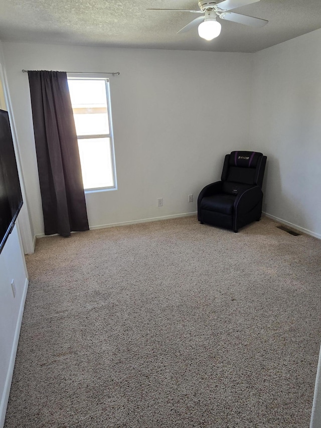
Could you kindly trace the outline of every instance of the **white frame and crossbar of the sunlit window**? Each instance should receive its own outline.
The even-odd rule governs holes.
[[[110,139],[111,174],[112,174],[114,185],[108,186],[108,187],[95,187],[93,189],[84,189],[85,193],[117,190],[116,160],[115,160],[114,134],[113,134],[112,116],[111,116],[109,78],[107,77],[107,74],[104,74],[104,73],[67,73],[67,79],[68,80],[104,80],[105,81],[109,134],[77,135],[77,139],[85,139],[85,138],[109,138]]]

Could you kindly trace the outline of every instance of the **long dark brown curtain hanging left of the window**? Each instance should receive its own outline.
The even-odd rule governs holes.
[[[88,230],[67,73],[28,71],[45,234]]]

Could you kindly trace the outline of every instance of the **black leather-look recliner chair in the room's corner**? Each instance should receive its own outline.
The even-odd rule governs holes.
[[[232,229],[260,220],[262,182],[266,156],[258,152],[231,152],[225,156],[221,181],[201,191],[197,202],[198,220]]]

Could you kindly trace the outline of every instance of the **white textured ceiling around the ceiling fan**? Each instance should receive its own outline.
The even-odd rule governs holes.
[[[105,47],[257,52],[321,28],[321,0],[260,0],[235,9],[268,20],[262,28],[220,20],[211,42],[197,28],[176,34],[195,19],[191,0],[0,0],[0,40]]]

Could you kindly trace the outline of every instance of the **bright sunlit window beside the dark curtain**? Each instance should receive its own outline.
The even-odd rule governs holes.
[[[116,189],[109,80],[68,73],[85,190]]]

